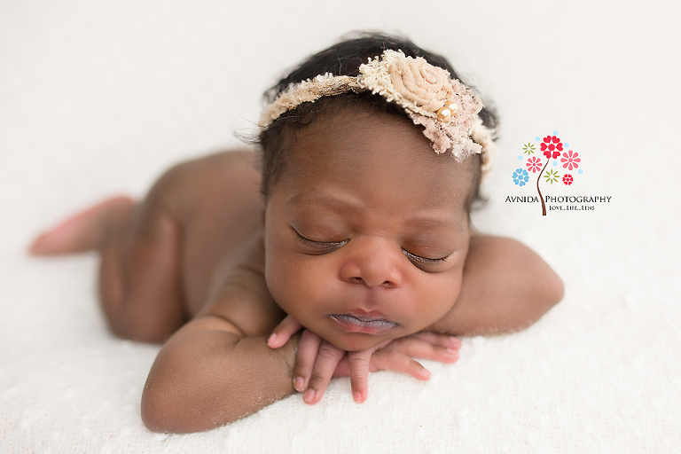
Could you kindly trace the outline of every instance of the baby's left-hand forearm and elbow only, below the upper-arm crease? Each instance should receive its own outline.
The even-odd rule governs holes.
[[[267,347],[229,320],[206,315],[163,346],[142,395],[142,419],[156,432],[198,432],[243,418],[294,392],[293,337]]]

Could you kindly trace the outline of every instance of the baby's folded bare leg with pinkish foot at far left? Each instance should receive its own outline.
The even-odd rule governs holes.
[[[99,290],[114,333],[162,342],[187,317],[179,274],[180,228],[162,201],[163,179],[147,199],[106,200],[35,239],[33,254],[98,249]]]

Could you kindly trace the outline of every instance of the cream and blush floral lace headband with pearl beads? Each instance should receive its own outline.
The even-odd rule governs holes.
[[[262,113],[260,126],[267,128],[281,114],[302,103],[349,91],[372,91],[401,106],[414,124],[424,126],[435,153],[450,151],[457,160],[481,153],[482,172],[491,168],[494,150],[491,131],[478,113],[480,98],[450,73],[421,57],[406,57],[403,51],[384,51],[359,67],[359,75],[317,75],[292,83]]]

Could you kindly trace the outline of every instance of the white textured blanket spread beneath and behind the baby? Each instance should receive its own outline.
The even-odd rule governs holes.
[[[679,7],[422,5],[0,3],[0,452],[681,452]],[[312,407],[292,395],[206,433],[148,432],[158,347],[108,333],[94,255],[37,260],[28,242],[238,145],[284,68],[357,28],[410,35],[495,101],[500,153],[475,224],[536,249],[565,299],[522,333],[464,340],[457,364],[426,362],[430,382],[372,374],[361,405],[334,380]],[[564,209],[546,216],[512,201],[536,195],[513,183],[523,145],[553,130],[583,173],[544,195],[609,200],[550,200]]]

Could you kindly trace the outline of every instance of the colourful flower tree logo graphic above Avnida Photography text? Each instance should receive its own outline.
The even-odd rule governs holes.
[[[544,196],[542,196],[542,191],[539,184],[542,181],[542,176],[544,176],[545,184],[554,184],[564,186],[572,186],[576,182],[576,178],[583,174],[583,168],[580,168],[582,164],[582,158],[579,157],[579,153],[573,150],[568,150],[569,145],[564,144],[560,137],[558,137],[558,131],[553,131],[553,134],[546,137],[535,137],[535,141],[539,142],[539,151],[541,154],[536,152],[536,146],[531,142],[524,144],[522,146],[522,153],[527,154],[527,162],[525,162],[526,168],[516,168],[513,171],[513,184],[518,186],[524,186],[528,184],[530,173],[534,178],[534,175],[538,172],[536,176],[536,192],[539,194],[539,200],[542,202],[542,215],[546,215],[546,205],[544,203]],[[544,162],[544,159],[546,160]],[[525,156],[522,154],[518,156],[518,160],[525,160]],[[552,164],[555,168],[546,168]],[[561,170],[562,168],[562,170]],[[560,175],[559,170],[563,172]]]

